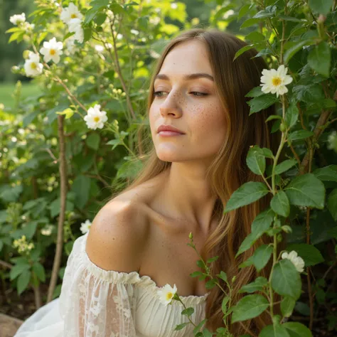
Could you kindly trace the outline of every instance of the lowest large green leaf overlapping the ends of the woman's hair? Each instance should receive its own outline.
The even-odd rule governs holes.
[[[269,303],[262,295],[247,295],[232,308],[232,323],[254,319],[267,309]]]

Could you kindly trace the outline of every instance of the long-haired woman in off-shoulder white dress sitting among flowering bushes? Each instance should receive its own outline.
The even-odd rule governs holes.
[[[265,122],[274,107],[249,116],[245,95],[260,85],[267,65],[254,58],[254,49],[233,62],[243,46],[229,33],[199,28],[166,46],[151,78],[152,146],[143,171],[76,240],[60,299],[38,310],[16,336],[193,336],[191,324],[174,331],[187,318],[178,301],[161,302],[165,284],[176,284],[182,301],[193,306],[193,322],[207,317],[210,331],[222,326],[223,293],[218,287],[207,292],[207,279],[190,276],[198,255],[186,245],[188,234],[205,259],[219,256],[213,275],[237,275],[237,300],[242,284],[256,275],[253,267],[237,267],[252,250],[235,254],[269,197],[226,214],[223,205],[242,183],[261,181],[245,164],[250,145],[275,153],[279,140],[271,139]],[[178,133],[161,131],[163,125]],[[240,336],[266,323],[260,316],[231,329]]]

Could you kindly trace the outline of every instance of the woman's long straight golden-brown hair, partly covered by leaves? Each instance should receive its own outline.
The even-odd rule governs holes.
[[[232,299],[234,303],[240,299],[238,290],[243,284],[252,282],[257,277],[254,267],[238,268],[238,265],[252,255],[254,248],[262,242],[269,242],[268,237],[262,237],[252,249],[242,253],[237,259],[235,254],[242,240],[251,232],[252,221],[257,214],[264,210],[269,204],[270,195],[257,200],[245,207],[232,210],[223,214],[224,206],[231,194],[247,181],[263,181],[261,176],[255,175],[246,164],[247,151],[251,145],[267,147],[276,154],[279,144],[279,132],[270,134],[270,122],[265,122],[270,114],[275,114],[275,107],[269,107],[261,112],[249,116],[250,107],[247,105],[249,98],[245,97],[253,87],[260,85],[262,70],[267,67],[263,58],[257,57],[257,50],[250,49],[240,55],[235,61],[235,53],[240,48],[247,46],[230,33],[218,31],[215,28],[193,28],[183,31],[173,38],[164,48],[160,58],[157,60],[149,87],[147,102],[147,113],[154,100],[154,77],[159,73],[166,55],[179,43],[198,40],[205,43],[208,49],[208,58],[215,78],[217,95],[223,105],[226,118],[226,139],[218,151],[214,161],[208,167],[206,178],[210,181],[213,193],[218,197],[213,210],[213,216],[219,219],[218,226],[211,232],[201,255],[216,256],[219,258],[212,264],[212,274],[215,276],[221,270],[228,274],[228,279],[236,275]],[[128,191],[139,184],[154,178],[162,171],[169,169],[171,162],[158,159],[154,144],[149,141],[146,154],[142,157],[144,167],[132,183],[124,188]],[[268,163],[267,164],[271,164]],[[268,269],[268,268],[267,268]],[[266,273],[260,272],[259,275]],[[223,313],[221,304],[224,294],[218,287],[211,289],[206,304],[207,327],[211,331],[223,326]],[[231,332],[240,336],[253,329],[260,331],[262,326],[270,323],[269,316],[261,315],[257,319],[246,321],[245,324],[234,323]],[[245,327],[244,327],[245,326]],[[248,330],[249,329],[249,330]]]

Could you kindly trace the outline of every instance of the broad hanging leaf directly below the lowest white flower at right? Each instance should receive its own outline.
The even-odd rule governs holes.
[[[272,289],[277,294],[299,299],[301,295],[301,277],[290,260],[281,260],[274,264]]]

